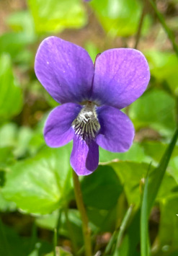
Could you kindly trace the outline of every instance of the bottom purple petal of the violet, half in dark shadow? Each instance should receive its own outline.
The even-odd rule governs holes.
[[[74,136],[74,145],[71,152],[71,167],[77,175],[90,175],[97,169],[99,149],[94,141],[86,144],[80,136]]]

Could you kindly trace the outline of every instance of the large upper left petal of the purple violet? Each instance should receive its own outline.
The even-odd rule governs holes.
[[[35,73],[57,102],[79,103],[89,98],[94,66],[78,45],[58,37],[46,38],[37,50]]]

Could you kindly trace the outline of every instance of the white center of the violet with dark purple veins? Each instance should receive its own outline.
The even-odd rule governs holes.
[[[74,125],[76,135],[81,136],[84,141],[94,139],[100,129],[95,105],[92,102],[87,102],[72,125]]]

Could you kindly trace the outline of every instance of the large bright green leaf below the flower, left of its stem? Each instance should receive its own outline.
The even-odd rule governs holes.
[[[70,198],[71,144],[59,149],[44,147],[35,157],[14,164],[6,175],[2,193],[6,200],[28,213],[50,213]]]

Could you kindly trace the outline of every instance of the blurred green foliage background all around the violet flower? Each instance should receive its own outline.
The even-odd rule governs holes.
[[[74,250],[82,255],[81,219],[69,163],[72,144],[59,149],[45,146],[43,125],[56,102],[35,77],[35,53],[48,35],[83,46],[93,61],[108,48],[134,47],[143,1],[8,1],[8,11],[5,2],[0,1],[5,17],[0,18],[0,256],[53,256],[56,230],[56,255],[75,255]],[[178,2],[159,2],[166,24],[177,36]],[[156,197],[148,220],[151,255],[176,256],[178,145],[167,169],[170,151],[164,152],[177,128],[178,60],[151,6],[138,46],[148,60],[151,81],[143,96],[123,110],[135,125],[135,141],[122,154],[99,149],[99,167],[81,177],[81,190],[95,253],[104,252],[132,204],[117,252],[141,255],[141,204],[149,169],[150,193],[144,201]],[[156,168],[163,156],[164,164]],[[112,256],[114,247],[115,240]]]

